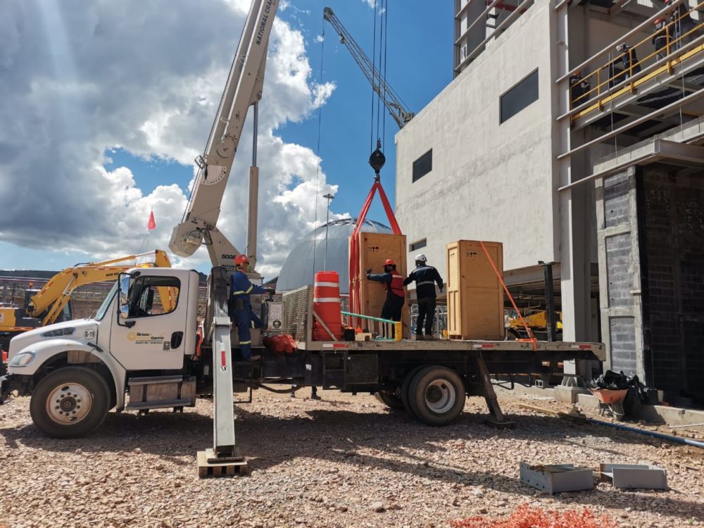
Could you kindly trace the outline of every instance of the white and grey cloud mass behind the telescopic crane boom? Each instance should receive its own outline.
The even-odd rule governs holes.
[[[166,249],[184,191],[166,178],[145,192],[129,168],[103,165],[117,147],[188,165],[201,153],[249,0],[171,5],[165,16],[163,4],[137,0],[0,4],[0,241],[119,256],[139,249],[153,208],[157,228],[147,244]],[[276,134],[285,122],[310,118],[332,94],[333,83],[312,77],[303,35],[276,20],[258,146],[259,267],[268,276],[313,227],[316,179],[320,194],[337,191],[310,148]],[[239,249],[251,139],[248,125],[218,224]],[[319,219],[325,210],[318,200]],[[176,263],[206,260],[199,250]]]

